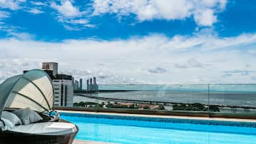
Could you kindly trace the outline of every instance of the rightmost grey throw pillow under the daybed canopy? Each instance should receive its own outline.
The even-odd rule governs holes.
[[[37,112],[30,110],[29,107],[16,110],[13,113],[22,120],[23,125],[29,125],[29,123],[36,123],[39,120],[42,120],[42,117],[40,117]]]

